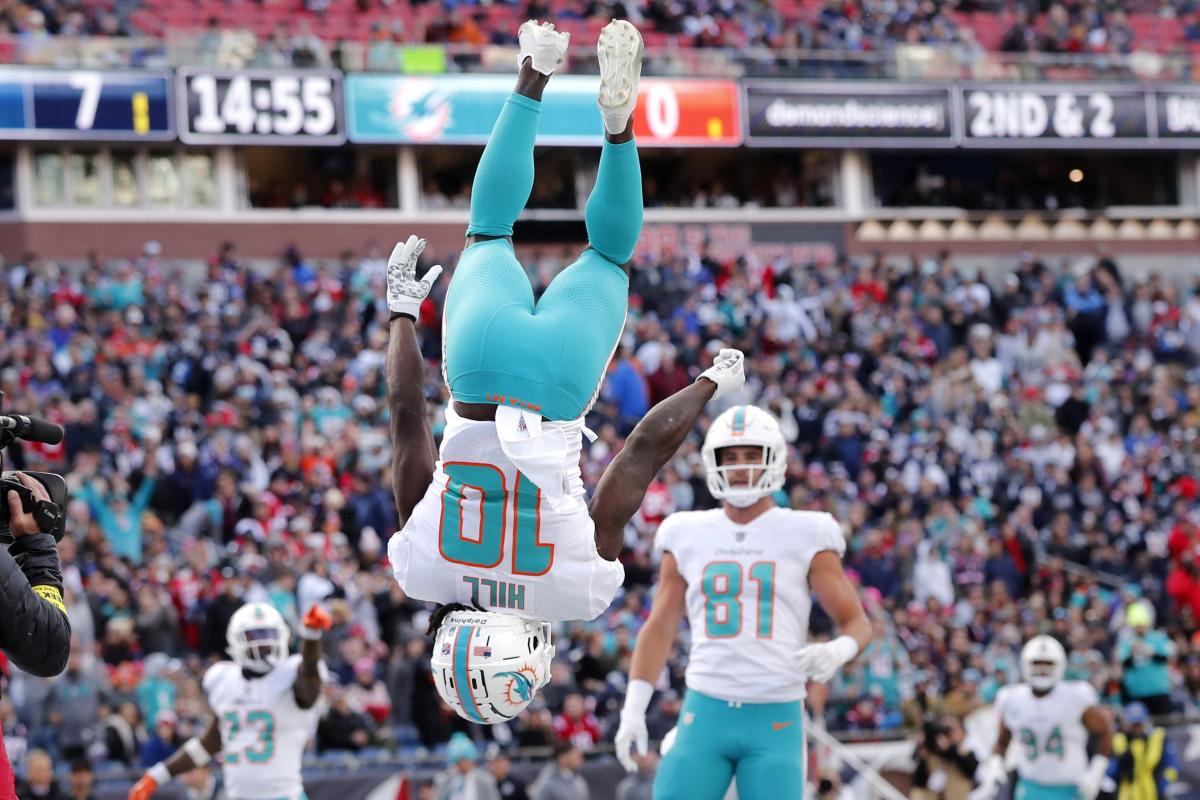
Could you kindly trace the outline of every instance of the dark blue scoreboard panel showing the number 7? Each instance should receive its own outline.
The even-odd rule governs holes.
[[[0,70],[0,139],[170,142],[169,73]]]

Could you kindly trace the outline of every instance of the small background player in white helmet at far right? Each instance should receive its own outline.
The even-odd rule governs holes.
[[[1016,736],[1013,800],[1094,800],[1112,756],[1112,723],[1091,684],[1063,680],[1067,651],[1050,636],[1021,648],[1024,684],[996,693],[1000,739],[980,769],[974,800],[990,800],[1008,778],[1004,756]],[[1096,754],[1087,758],[1088,736]]]

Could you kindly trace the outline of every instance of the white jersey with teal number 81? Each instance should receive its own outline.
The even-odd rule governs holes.
[[[845,553],[838,522],[772,509],[739,525],[721,509],[685,511],[662,522],[654,547],[674,555],[688,582],[688,687],[742,703],[802,699],[796,651],[809,634],[809,565],[821,551]]]

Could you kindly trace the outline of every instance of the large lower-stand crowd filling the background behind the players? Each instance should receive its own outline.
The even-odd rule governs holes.
[[[34,254],[0,285],[6,408],[66,427],[11,447],[6,469],[68,475],[60,549],[74,633],[67,672],[7,669],[0,724],[14,763],[152,764],[197,733],[198,679],[250,600],[295,624],[326,603],[335,676],[319,751],[438,747],[464,724],[428,674],[430,608],[384,563],[395,528],[383,363],[385,249],[269,271],[222,246],[186,273],[151,242],[68,271]],[[452,266],[454,253],[434,254]],[[526,253],[539,290],[563,264]],[[748,354],[732,403],[790,441],[781,504],[842,523],[877,638],[814,712],[877,733],[964,715],[1016,679],[1038,631],[1112,702],[1200,711],[1200,282],[1110,258],[1024,253],[989,283],[943,253],[889,263],[761,264],[638,257],[622,345],[589,415],[589,486],[646,410],[721,345]],[[422,308],[434,429],[448,401],[439,307]],[[712,409],[714,413],[721,409]],[[611,736],[648,613],[656,525],[710,507],[702,429],[626,536],[626,585],[563,626],[552,679],[500,746]],[[816,636],[828,620],[814,619]],[[686,634],[649,714],[680,708]]]

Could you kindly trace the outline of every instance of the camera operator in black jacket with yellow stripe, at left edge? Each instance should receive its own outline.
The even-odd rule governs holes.
[[[12,473],[34,495],[50,501],[46,488],[24,473]],[[52,534],[40,529],[20,495],[8,489],[0,503],[8,505],[12,545],[0,547],[0,650],[18,668],[40,678],[58,675],[67,666],[71,625],[62,602],[62,571]],[[16,798],[12,765],[0,739],[0,800]]]

